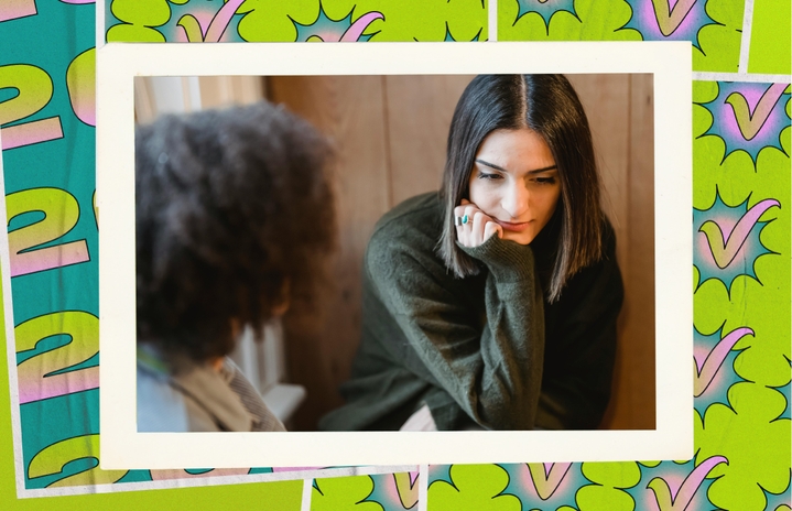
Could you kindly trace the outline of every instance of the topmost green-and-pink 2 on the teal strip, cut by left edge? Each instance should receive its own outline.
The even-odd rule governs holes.
[[[0,66],[0,90],[13,88],[17,95],[0,102],[0,139],[2,149],[23,148],[48,140],[63,139],[61,117],[6,126],[25,119],[44,108],[52,99],[52,78],[40,67],[29,64]]]

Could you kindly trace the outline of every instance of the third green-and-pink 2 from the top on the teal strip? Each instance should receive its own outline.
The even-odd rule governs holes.
[[[34,349],[52,336],[70,340],[20,363],[17,368],[20,404],[99,388],[99,366],[68,371],[99,352],[99,318],[82,311],[34,317],[14,328],[17,352]]]

